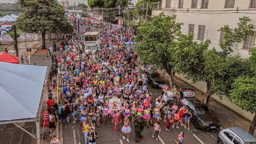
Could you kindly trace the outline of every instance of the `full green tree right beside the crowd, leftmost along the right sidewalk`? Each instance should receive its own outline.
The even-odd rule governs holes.
[[[170,86],[173,84],[174,71],[172,50],[176,36],[180,34],[180,24],[176,23],[176,15],[166,16],[163,12],[152,16],[152,20],[140,22],[135,37],[136,54],[145,63],[165,69],[170,75]]]

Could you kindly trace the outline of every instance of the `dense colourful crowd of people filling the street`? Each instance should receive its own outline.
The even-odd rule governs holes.
[[[90,22],[84,25],[92,26]],[[61,102],[54,106],[52,95],[48,95],[48,108],[55,108],[50,112],[50,132],[56,126],[57,116],[64,128],[68,122],[80,123],[85,144],[87,141],[96,144],[101,126],[112,123],[114,131],[118,132],[122,122],[122,137],[129,142],[134,119],[138,116],[146,120],[147,129],[150,125],[154,128],[152,138],[156,140],[162,118],[166,131],[170,131],[170,125],[178,129],[179,124],[189,130],[191,113],[185,107],[179,109],[176,103],[172,106],[163,100],[169,90],[167,84],[156,99],[150,94],[146,73],[136,66],[137,55],[133,48],[128,51],[125,44],[134,40],[134,30],[111,30],[103,24],[99,27],[100,45],[94,53],[84,52],[84,41],[76,36],[61,45],[61,55],[56,58],[58,66],[54,66],[60,70],[61,82],[57,86],[56,76],[51,79],[52,88],[58,88]],[[172,91],[178,98],[178,91]],[[110,99],[121,100],[118,110],[110,109]],[[176,142],[183,144],[183,140],[184,132],[180,132]]]

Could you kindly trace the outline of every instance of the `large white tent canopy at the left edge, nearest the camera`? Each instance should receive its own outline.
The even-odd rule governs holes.
[[[37,116],[46,72],[46,66],[0,62],[0,122]]]

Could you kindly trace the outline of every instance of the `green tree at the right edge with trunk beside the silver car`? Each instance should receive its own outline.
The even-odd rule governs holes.
[[[230,90],[230,100],[241,109],[255,114],[256,112],[256,48],[249,51],[250,57],[244,60],[250,71],[243,76],[239,76],[232,83]],[[256,127],[256,115],[252,120],[249,132],[254,134]]]

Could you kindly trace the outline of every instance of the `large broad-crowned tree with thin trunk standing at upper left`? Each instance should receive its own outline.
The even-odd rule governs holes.
[[[23,0],[20,7],[24,10],[16,21],[19,29],[25,32],[42,34],[42,49],[45,46],[45,34],[49,32],[69,33],[72,24],[66,18],[64,8],[57,0]]]

